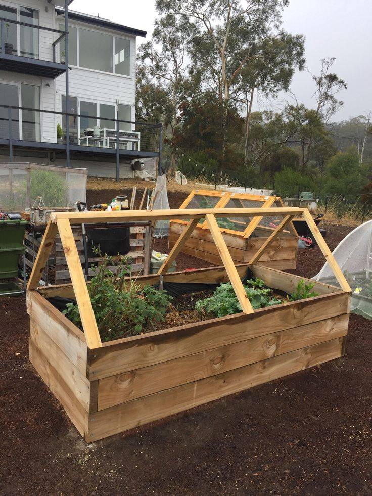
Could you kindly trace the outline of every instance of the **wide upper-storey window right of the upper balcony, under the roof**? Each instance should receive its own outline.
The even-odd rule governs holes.
[[[59,29],[64,31],[65,25],[60,23]],[[130,76],[130,40],[127,38],[69,26],[68,46],[71,65]],[[64,60],[65,53],[65,42],[61,41],[60,61]]]

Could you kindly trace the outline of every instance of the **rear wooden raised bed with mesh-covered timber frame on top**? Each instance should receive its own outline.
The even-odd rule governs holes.
[[[283,207],[280,197],[259,196],[225,191],[194,190],[185,199],[181,209],[199,208],[203,203],[209,203],[214,208],[234,207]],[[270,218],[271,217],[271,218]],[[266,238],[274,231],[272,223],[277,221],[274,216],[255,217],[254,221],[247,218],[234,218],[228,215],[228,220],[234,224],[234,229],[220,227],[223,239],[235,263],[249,262],[257,250],[263,245]],[[181,235],[184,220],[172,220],[169,224],[169,247],[173,247]],[[288,230],[277,236],[275,242],[261,257],[262,265],[284,269],[296,268],[298,235],[292,224],[288,223]],[[201,258],[210,263],[222,263],[213,237],[209,231],[207,221],[199,222],[192,235],[182,247],[182,252]]]

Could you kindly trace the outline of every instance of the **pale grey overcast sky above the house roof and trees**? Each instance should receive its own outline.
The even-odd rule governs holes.
[[[151,38],[156,16],[155,0],[74,0],[70,9],[105,17],[147,31]],[[306,37],[308,69],[317,74],[320,59],[336,57],[334,71],[348,85],[340,94],[343,108],[335,120],[347,119],[372,109],[372,1],[371,0],[291,0],[283,13],[283,28]],[[145,41],[137,38],[137,43]],[[307,72],[295,74],[292,91],[299,102],[313,105],[314,92]],[[261,103],[263,109],[269,104]],[[275,103],[273,104],[275,105]]]

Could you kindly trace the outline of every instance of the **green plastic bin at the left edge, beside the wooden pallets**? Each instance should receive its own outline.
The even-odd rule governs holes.
[[[18,262],[26,250],[23,238],[27,224],[27,220],[0,220],[0,295],[24,292],[18,284]],[[25,267],[23,272],[26,281]],[[9,281],[12,279],[16,282]]]

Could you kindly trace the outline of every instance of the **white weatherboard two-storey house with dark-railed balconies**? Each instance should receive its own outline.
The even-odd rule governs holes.
[[[146,32],[55,1],[0,0],[0,160],[131,177],[134,160],[161,154],[161,126],[135,122]]]

